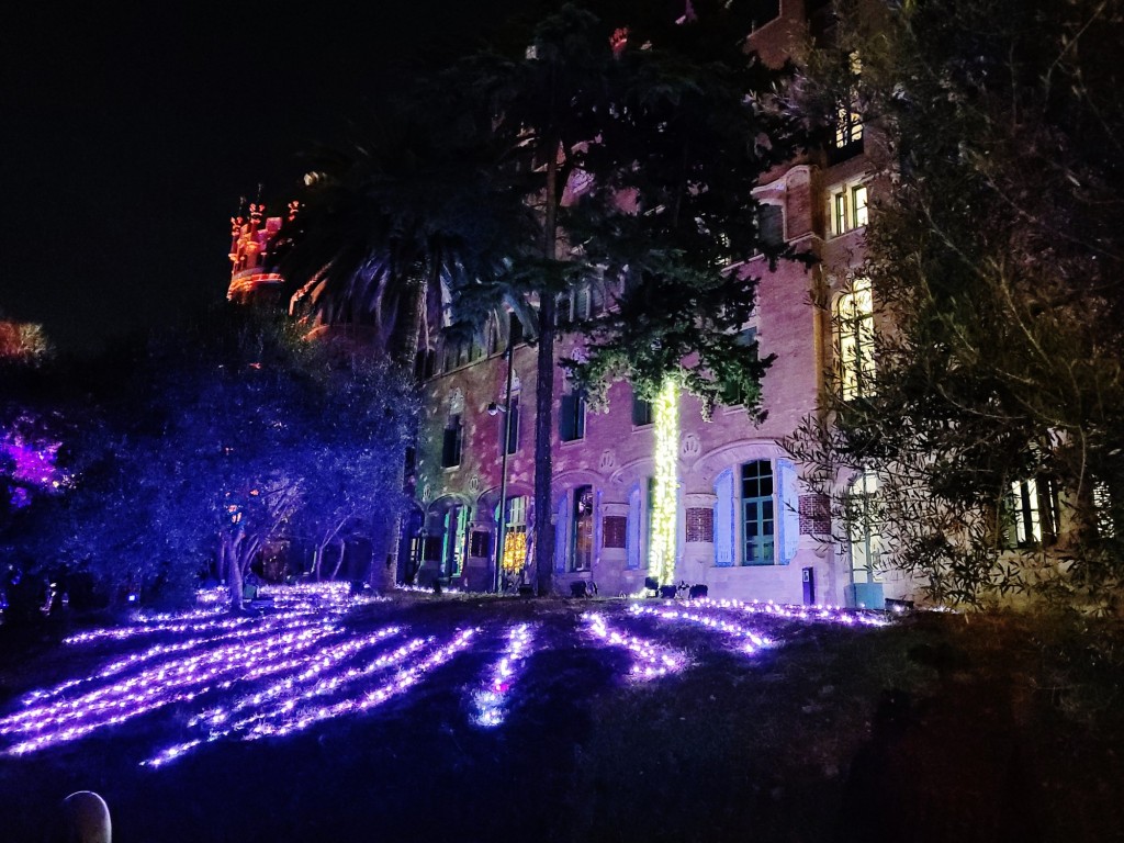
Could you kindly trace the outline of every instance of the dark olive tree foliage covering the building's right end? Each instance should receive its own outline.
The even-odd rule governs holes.
[[[877,477],[861,517],[937,600],[1019,591],[1120,611],[1124,7],[879,7],[841,9],[794,101],[823,125],[845,103],[868,126],[880,178],[856,273],[876,375],[861,398],[825,395],[787,447],[842,538],[852,480]],[[1014,547],[1010,492],[1031,479],[1042,536]]]

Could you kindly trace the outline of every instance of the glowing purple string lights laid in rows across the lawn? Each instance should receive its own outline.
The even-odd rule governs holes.
[[[94,631],[98,634],[87,638],[75,636],[71,643],[99,638],[128,642],[133,635],[152,632],[209,633],[185,641],[162,642],[119,658],[93,676],[28,695],[22,710],[0,718],[0,736],[18,741],[3,752],[31,753],[120,725],[170,704],[197,700],[199,705],[209,703],[187,726],[206,734],[169,746],[144,763],[160,767],[224,737],[256,740],[294,734],[325,720],[369,711],[405,694],[430,670],[472,646],[478,632],[462,631],[439,644],[433,637],[414,638],[356,667],[354,661],[364,651],[382,645],[402,631],[387,626],[366,635],[353,635],[342,628],[337,623],[339,617],[348,608],[368,601],[355,600],[347,583],[289,587],[274,600],[279,608],[294,608],[225,620],[200,619],[206,616],[198,611],[189,613],[187,618],[149,616],[137,618],[124,631]],[[200,604],[211,610],[209,597],[201,598]],[[844,625],[890,623],[874,613],[836,607],[791,607],[736,600],[636,604],[629,611],[634,617],[701,625],[736,638],[738,649],[751,654],[772,642],[736,623],[732,614]],[[601,615],[586,614],[582,618],[590,637],[629,651],[633,656],[629,677],[633,679],[656,679],[688,664],[681,651],[613,628]],[[111,632],[129,634],[116,637],[109,634]],[[500,658],[490,665],[482,686],[472,696],[474,724],[492,727],[505,720],[513,688],[533,653],[533,643],[531,625],[507,629]],[[123,676],[126,673],[128,676]],[[114,679],[116,681],[110,681]],[[272,683],[255,688],[263,679],[271,679]],[[70,696],[76,687],[97,682],[100,686],[93,690]],[[245,690],[241,696],[232,697],[242,688]],[[56,699],[58,697],[63,699]]]

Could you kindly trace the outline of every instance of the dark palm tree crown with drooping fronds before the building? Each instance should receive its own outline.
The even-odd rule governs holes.
[[[434,326],[471,330],[505,305],[527,318],[498,281],[527,237],[523,192],[490,136],[450,133],[434,114],[400,112],[375,143],[321,152],[279,244],[293,309],[404,368]]]

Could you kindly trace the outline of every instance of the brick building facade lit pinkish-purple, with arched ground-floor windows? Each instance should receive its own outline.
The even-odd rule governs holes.
[[[783,0],[750,36],[750,48],[781,61],[817,26],[822,7]],[[765,420],[754,425],[743,408],[728,406],[704,422],[692,397],[679,402],[674,581],[705,583],[711,597],[878,608],[889,597],[913,598],[909,582],[879,571],[877,536],[852,532],[839,540],[826,501],[804,487],[801,466],[778,445],[817,410],[821,391],[832,388],[828,373],[855,395],[873,375],[870,289],[852,268],[861,263],[877,184],[863,154],[864,127],[842,111],[841,118],[830,148],[778,169],[756,189],[777,230],[818,262],[782,262],[770,271],[758,259],[733,268],[760,279],[756,311],[744,328],[762,355],[777,355],[763,381]],[[602,300],[579,293],[563,310],[584,314]],[[404,549],[420,565],[423,582],[441,577],[466,589],[490,588],[505,425],[511,430],[505,568],[516,578],[534,563],[527,532],[535,350],[515,344],[511,410],[497,411],[508,406],[508,336],[505,325],[490,328],[482,347],[429,350],[417,510]],[[580,353],[580,345],[577,335],[560,336],[558,359]],[[578,581],[596,583],[602,595],[644,588],[655,473],[651,414],[628,383],[613,384],[608,398],[607,411],[591,413],[561,373],[555,378],[555,546],[545,563],[561,593]],[[856,493],[872,493],[865,479],[854,482]]]

